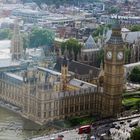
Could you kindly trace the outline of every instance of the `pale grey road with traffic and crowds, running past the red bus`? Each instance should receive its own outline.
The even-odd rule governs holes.
[[[140,120],[140,114],[118,118],[113,121],[101,121],[99,125],[96,124],[95,126],[93,124],[91,135],[96,136],[96,140],[99,140],[101,134],[109,131],[113,140],[126,140],[128,137],[130,137],[130,132],[135,129],[134,127],[129,127],[130,122],[128,122],[128,120],[132,121],[136,118]],[[121,124],[122,122],[123,124]],[[50,140],[51,138],[57,138],[59,134],[64,136],[63,140],[86,140],[87,138],[86,134],[79,135],[77,128],[73,130],[58,132],[56,134],[51,134],[44,137],[33,138],[32,140]]]

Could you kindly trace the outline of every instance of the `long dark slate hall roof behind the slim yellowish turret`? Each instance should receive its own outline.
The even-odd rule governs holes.
[[[57,59],[57,63],[55,65],[54,69],[57,71],[61,71],[62,62],[63,62],[63,58],[59,57]],[[100,72],[99,68],[96,68],[96,67],[93,67],[90,65],[86,65],[86,64],[80,63],[78,61],[73,61],[73,60],[68,62],[68,70],[71,72],[74,72],[76,74],[79,74],[79,75],[86,75],[86,74],[89,74],[90,71],[92,71],[93,77],[97,77]]]

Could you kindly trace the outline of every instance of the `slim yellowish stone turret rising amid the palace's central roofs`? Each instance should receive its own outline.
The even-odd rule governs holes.
[[[62,74],[62,90],[67,90],[67,76],[68,76],[68,60],[67,57],[64,56],[63,63],[61,66],[61,74]]]

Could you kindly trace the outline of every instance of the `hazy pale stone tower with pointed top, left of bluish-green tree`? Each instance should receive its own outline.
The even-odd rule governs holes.
[[[12,60],[19,60],[23,55],[23,40],[20,34],[18,20],[14,23],[14,35],[11,40]]]

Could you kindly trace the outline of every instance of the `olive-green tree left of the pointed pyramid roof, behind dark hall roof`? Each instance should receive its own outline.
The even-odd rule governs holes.
[[[61,45],[62,54],[64,54],[65,50],[67,49],[67,53],[69,57],[72,57],[72,53],[74,53],[74,60],[77,60],[77,55],[81,51],[82,45],[73,38],[70,38],[66,42],[63,42]]]

